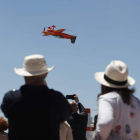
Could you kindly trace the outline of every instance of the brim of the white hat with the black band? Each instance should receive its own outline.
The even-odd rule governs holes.
[[[95,79],[102,85],[104,86],[107,86],[107,87],[112,87],[112,88],[126,88],[126,87],[129,87],[129,86],[132,86],[135,84],[135,80],[128,76],[127,78],[127,83],[123,86],[117,86],[117,85],[114,85],[114,84],[110,84],[109,82],[107,82],[105,79],[104,79],[104,74],[105,72],[96,72],[95,73]]]

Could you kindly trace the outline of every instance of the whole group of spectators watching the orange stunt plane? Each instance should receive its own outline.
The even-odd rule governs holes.
[[[25,84],[3,97],[1,110],[8,122],[0,118],[0,140],[86,140],[86,109],[76,94],[75,102],[68,102],[61,92],[49,89],[45,78],[53,69],[43,55],[26,56],[23,68],[14,69]],[[140,100],[129,88],[135,80],[127,65],[111,61],[104,72],[95,73],[95,79],[101,93],[90,140],[140,140]]]

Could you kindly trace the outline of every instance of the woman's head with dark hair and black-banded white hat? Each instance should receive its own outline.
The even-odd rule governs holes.
[[[105,72],[95,73],[95,79],[101,84],[101,94],[117,91],[124,103],[130,105],[131,94],[134,89],[128,89],[135,83],[135,80],[128,76],[127,65],[119,60],[112,61]]]

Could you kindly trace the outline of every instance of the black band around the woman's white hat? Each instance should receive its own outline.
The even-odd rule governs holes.
[[[109,77],[107,77],[105,74],[104,74],[104,79],[111,83],[111,84],[114,84],[114,85],[117,85],[117,86],[124,86],[126,83],[127,83],[127,80],[123,81],[123,82],[118,82],[118,81],[115,81],[115,80],[112,80],[110,79]]]

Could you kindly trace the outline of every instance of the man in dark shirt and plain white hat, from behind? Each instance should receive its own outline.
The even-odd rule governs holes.
[[[25,85],[7,92],[1,109],[9,122],[9,140],[59,140],[59,125],[68,119],[71,107],[58,91],[49,89],[45,78],[47,68],[44,56],[26,56],[22,69]]]

